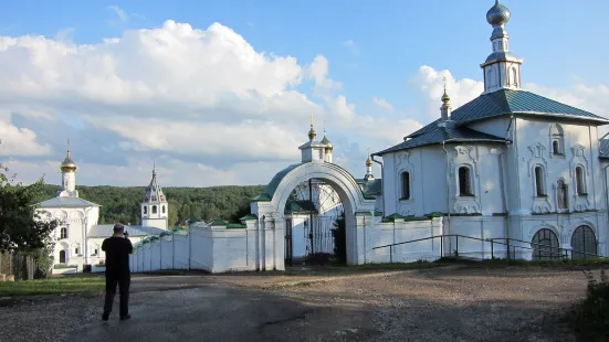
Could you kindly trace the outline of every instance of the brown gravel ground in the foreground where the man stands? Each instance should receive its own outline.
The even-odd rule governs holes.
[[[0,300],[0,341],[575,341],[556,316],[586,290],[580,271],[471,267],[133,284],[127,322],[102,323],[101,296]]]

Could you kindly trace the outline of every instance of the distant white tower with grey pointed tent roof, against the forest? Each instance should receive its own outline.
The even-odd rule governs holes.
[[[153,179],[146,189],[144,202],[141,202],[141,225],[168,229],[169,204],[157,181],[156,165],[153,167]]]

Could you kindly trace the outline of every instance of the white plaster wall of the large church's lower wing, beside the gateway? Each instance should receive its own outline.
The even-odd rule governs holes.
[[[442,146],[422,147],[384,157],[386,216],[393,213],[423,216],[433,212],[447,213],[449,209],[451,213],[465,214],[492,215],[504,212],[500,178],[500,153],[504,146],[447,143],[444,148],[448,157]],[[474,197],[456,195],[458,170],[461,165],[471,169]],[[410,172],[410,200],[400,200],[400,174],[403,171]]]

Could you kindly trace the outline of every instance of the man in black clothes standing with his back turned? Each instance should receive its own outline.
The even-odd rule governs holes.
[[[106,300],[102,319],[107,321],[116,293],[116,285],[120,291],[120,320],[128,320],[129,316],[129,254],[133,253],[132,242],[125,236],[125,226],[114,225],[114,235],[104,239],[102,250],[106,253]]]

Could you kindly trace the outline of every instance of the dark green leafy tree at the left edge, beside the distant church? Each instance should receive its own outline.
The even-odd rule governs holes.
[[[9,180],[8,170],[0,164],[0,252],[49,250],[51,233],[60,222],[42,220],[43,213],[35,211],[44,195],[43,180],[23,185]]]

